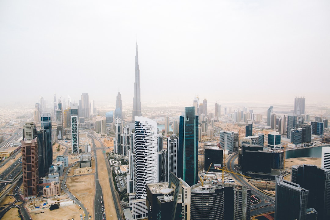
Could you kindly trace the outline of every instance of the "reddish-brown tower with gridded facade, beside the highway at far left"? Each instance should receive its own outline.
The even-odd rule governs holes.
[[[38,141],[37,138],[30,141],[24,138],[21,143],[24,197],[36,198],[39,181]]]

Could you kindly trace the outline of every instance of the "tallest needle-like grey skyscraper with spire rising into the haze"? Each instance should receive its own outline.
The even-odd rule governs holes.
[[[140,93],[140,68],[139,68],[139,56],[138,56],[138,42],[136,42],[136,55],[135,55],[135,82],[134,82],[134,98],[133,98],[133,117],[141,116],[141,93]]]

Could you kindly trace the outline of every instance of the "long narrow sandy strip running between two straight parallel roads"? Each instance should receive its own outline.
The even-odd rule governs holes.
[[[96,147],[101,147],[101,144],[99,141],[95,140]],[[107,171],[107,166],[104,160],[103,150],[96,150],[97,155],[97,164],[98,164],[98,177],[99,182],[102,187],[103,192],[103,200],[106,210],[106,218],[109,220],[117,220],[118,218],[121,218],[120,216],[116,215],[116,209],[115,204],[113,201],[111,189],[110,189],[110,182],[109,182],[109,176]]]

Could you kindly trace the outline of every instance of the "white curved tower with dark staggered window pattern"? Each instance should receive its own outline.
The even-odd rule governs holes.
[[[136,199],[145,199],[146,183],[158,182],[157,122],[135,116],[134,153]]]

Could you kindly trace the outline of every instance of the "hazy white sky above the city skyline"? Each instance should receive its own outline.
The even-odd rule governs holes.
[[[133,102],[137,39],[142,103],[328,102],[329,12],[328,0],[2,0],[1,100]]]

